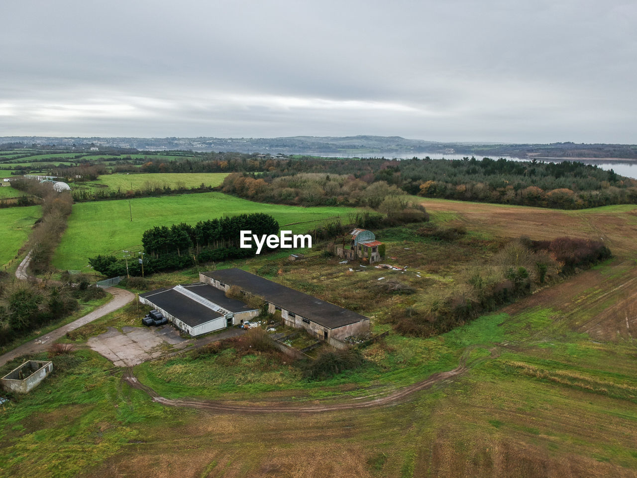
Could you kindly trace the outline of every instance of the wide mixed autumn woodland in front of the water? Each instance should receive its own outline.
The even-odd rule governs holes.
[[[614,171],[489,158],[282,160],[259,175],[231,174],[222,188],[256,201],[372,208],[401,194],[559,209],[637,203],[637,180]]]

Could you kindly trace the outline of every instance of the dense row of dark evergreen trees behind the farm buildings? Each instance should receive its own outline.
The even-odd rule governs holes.
[[[195,226],[173,224],[156,226],[142,235],[145,273],[176,270],[201,262],[241,259],[255,255],[256,248],[240,247],[240,231],[252,231],[255,235],[277,234],[279,225],[271,215],[240,214],[209,221],[199,221]],[[253,243],[254,244],[254,243]],[[268,250],[267,247],[264,248]],[[141,258],[141,257],[140,257]],[[97,272],[116,275],[141,275],[142,264],[136,260],[98,255],[89,259]]]

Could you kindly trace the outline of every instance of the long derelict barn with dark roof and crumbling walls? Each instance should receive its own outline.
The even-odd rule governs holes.
[[[342,339],[369,330],[368,317],[241,269],[199,273],[199,280],[221,291],[237,286],[244,294],[258,296],[268,303],[269,312],[281,312],[286,325],[318,338]]]

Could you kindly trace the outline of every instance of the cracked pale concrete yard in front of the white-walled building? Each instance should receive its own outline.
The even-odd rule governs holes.
[[[150,359],[187,347],[194,339],[186,339],[179,331],[166,324],[161,327],[122,327],[89,338],[91,349],[103,355],[113,365],[125,367],[138,365]]]

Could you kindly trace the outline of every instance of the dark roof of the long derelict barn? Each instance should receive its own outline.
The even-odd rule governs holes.
[[[320,300],[309,294],[295,291],[290,287],[276,284],[271,280],[245,272],[241,269],[223,269],[204,272],[203,275],[220,280],[231,286],[238,286],[256,296],[262,297],[274,305],[301,315],[310,321],[329,329],[336,329],[355,322],[369,320],[347,308]]]

